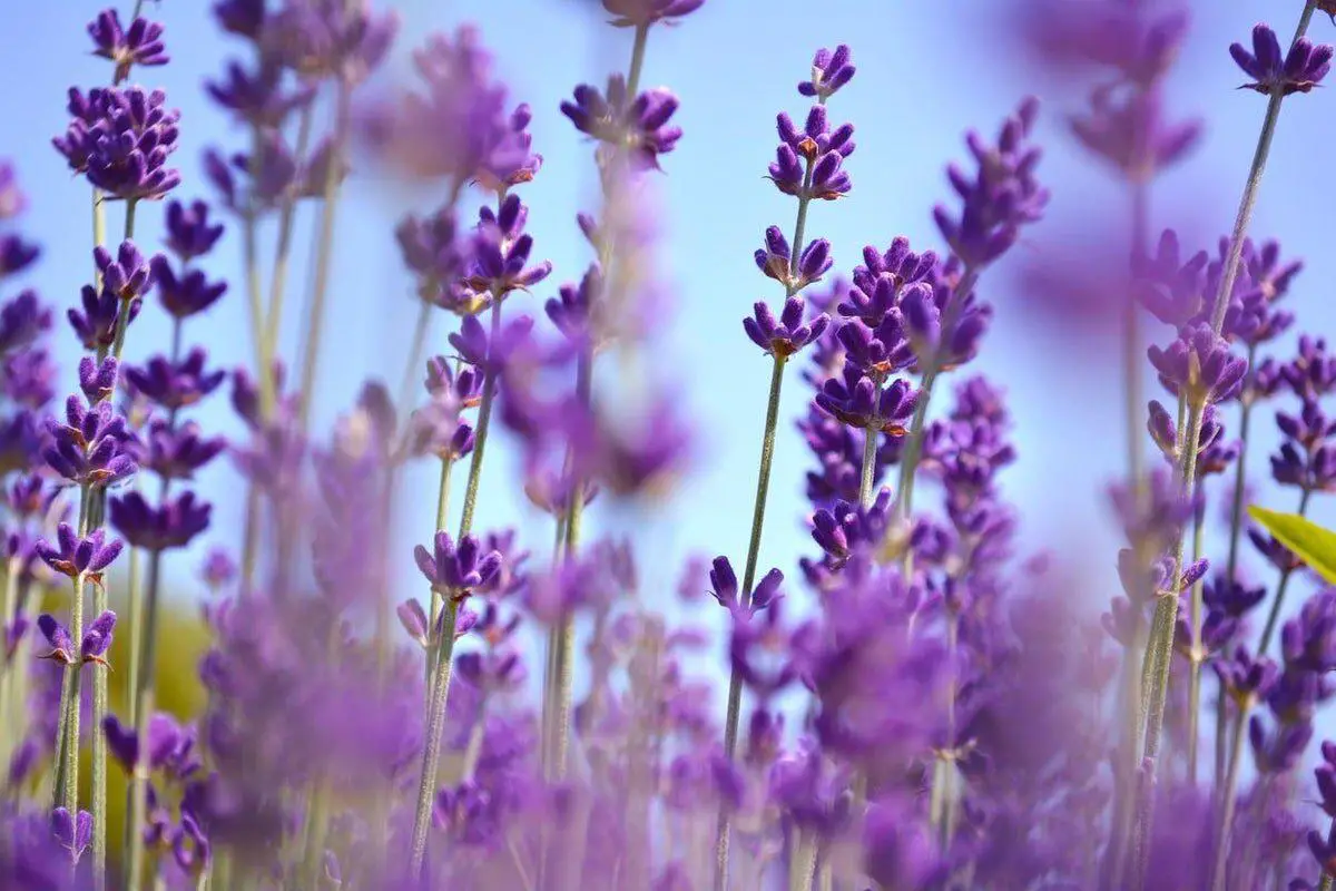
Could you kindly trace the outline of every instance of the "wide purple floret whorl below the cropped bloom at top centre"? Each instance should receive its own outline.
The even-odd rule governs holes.
[[[561,103],[561,114],[576,130],[628,151],[637,167],[653,170],[659,170],[659,156],[672,151],[681,138],[680,127],[668,126],[675,111],[677,98],[667,90],[647,90],[629,98],[621,75],[608,79],[607,95],[597,87],[580,84],[573,102]]]

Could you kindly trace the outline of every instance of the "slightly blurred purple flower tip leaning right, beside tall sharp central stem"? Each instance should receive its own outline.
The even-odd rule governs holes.
[[[945,206],[933,211],[942,238],[967,269],[978,271],[1015,243],[1021,227],[1035,222],[1049,203],[1049,192],[1034,178],[1041,152],[1029,143],[1039,103],[1026,99],[1007,118],[995,146],[970,132],[966,144],[979,166],[971,179],[954,164],[947,179],[963,202],[959,216]]]

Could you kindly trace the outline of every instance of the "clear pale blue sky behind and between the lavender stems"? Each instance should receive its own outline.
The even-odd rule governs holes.
[[[240,48],[216,33],[211,20],[199,15],[199,5],[167,0],[151,7],[167,25],[172,63],[140,72],[142,83],[164,87],[182,110],[182,150],[175,159],[184,175],[183,198],[207,194],[199,179],[206,146],[235,148],[243,142],[243,134],[206,102],[200,88]],[[884,248],[899,234],[921,250],[941,247],[930,210],[949,199],[945,163],[965,159],[961,136],[966,128],[993,132],[1027,92],[1046,102],[1039,138],[1049,155],[1042,170],[1054,194],[1049,219],[1037,232],[1057,238],[1070,231],[1065,242],[1071,250],[1100,250],[1082,244],[1081,232],[1092,231],[1094,223],[1114,220],[1116,226],[1124,219],[1117,184],[1065,132],[1061,115],[1078,107],[1078,96],[1038,79],[1007,48],[1006,19],[1013,5],[838,0],[820,4],[816,12],[815,4],[798,0],[711,0],[681,27],[653,31],[644,83],[671,87],[679,95],[676,123],[685,131],[677,150],[664,159],[667,175],[659,190],[660,267],[676,313],[655,363],[657,373],[679,385],[700,445],[692,473],[671,500],[636,517],[595,512],[592,521],[601,532],[633,529],[644,545],[641,577],[651,600],[671,590],[689,552],[743,557],[768,361],[745,339],[740,319],[754,301],[776,295],[774,282],[756,273],[751,252],[768,224],[791,227],[794,203],[762,176],[774,152],[775,114],[787,110],[798,116],[806,108],[794,85],[806,75],[815,48],[850,43],[859,67],[854,83],[831,103],[835,119],[858,128],[859,148],[848,162],[854,191],[844,200],[815,207],[808,223],[811,235],[831,239],[838,270],[847,273],[863,244]],[[1281,11],[1240,0],[1198,5],[1209,8],[1209,15],[1197,16],[1170,95],[1177,114],[1204,118],[1206,135],[1190,163],[1157,186],[1156,214],[1157,226],[1193,223],[1213,239],[1232,223],[1264,106],[1261,98],[1234,90],[1241,75],[1225,48],[1232,40],[1246,40],[1256,16]],[[32,199],[23,224],[47,250],[33,282],[61,307],[76,299],[88,275],[88,192],[63,168],[49,138],[64,127],[67,87],[96,85],[107,77],[107,63],[88,55],[83,31],[99,8],[83,0],[20,4],[9,12],[11,27],[0,32],[0,57],[15,72],[0,96],[0,120],[5,122],[0,156],[17,164]],[[604,27],[603,16],[595,15],[597,4],[589,0],[414,0],[397,8],[403,27],[391,73],[402,73],[406,52],[432,31],[474,21],[496,51],[498,72],[514,100],[533,106],[534,144],[545,164],[521,194],[532,206],[536,251],[556,266],[553,278],[525,307],[538,313],[538,301],[554,293],[557,283],[578,278],[588,262],[573,216],[596,207],[591,147],[557,107],[576,83],[601,83],[609,71],[625,67],[629,32]],[[1283,35],[1293,27],[1288,20],[1275,24]],[[1325,17],[1317,17],[1313,35],[1331,39]],[[1279,238],[1287,255],[1308,260],[1291,299],[1300,327],[1317,333],[1331,330],[1336,319],[1323,285],[1336,273],[1327,250],[1327,216],[1336,188],[1325,175],[1336,135],[1329,102],[1317,91],[1285,104],[1253,227]],[[413,194],[370,168],[359,168],[350,180],[338,219],[341,250],[334,258],[318,419],[333,419],[369,374],[397,383],[415,307],[391,227],[406,208],[429,208],[432,198],[438,196]],[[160,231],[158,216],[155,207],[140,212],[139,235],[148,246]],[[116,212],[111,220],[110,231],[119,235]],[[309,208],[301,220],[311,226]],[[307,243],[307,231],[298,244]],[[1011,397],[1021,461],[1006,474],[1005,486],[1021,505],[1026,550],[1050,548],[1081,565],[1093,594],[1106,597],[1116,540],[1102,492],[1122,465],[1118,382],[1112,357],[1073,343],[1054,323],[1054,306],[1037,303],[1018,286],[1021,266],[1045,262],[1038,234],[981,287],[998,311],[978,370],[1003,383]],[[238,281],[239,250],[239,240],[228,238],[211,260],[214,271]],[[283,331],[289,350],[297,341],[306,266],[298,260],[289,290],[291,314]],[[444,317],[436,321],[437,350],[445,349],[446,326]],[[158,314],[146,313],[131,333],[128,351],[143,358],[160,349],[166,335]],[[61,358],[72,363],[75,345],[63,326],[56,341]],[[204,342],[222,363],[250,361],[239,289],[187,329],[187,342]],[[788,383],[786,434],[807,398],[796,374]],[[227,431],[236,429],[224,399],[203,409],[199,418]],[[1260,426],[1269,434],[1265,414]],[[517,498],[513,454],[505,449],[493,454],[497,460],[485,474],[480,524],[521,521],[530,530],[529,546],[545,553],[549,528]],[[796,557],[811,549],[802,526],[807,466],[798,435],[782,438],[763,566],[792,570]],[[1261,469],[1256,461],[1253,466]],[[1253,476],[1261,478],[1261,473]],[[238,529],[240,520],[235,477],[228,468],[218,468],[203,486],[219,504],[218,528],[227,541],[227,530]],[[422,468],[407,476],[407,504],[398,517],[405,581],[413,574],[411,544],[429,534],[434,493],[434,470]],[[1288,506],[1291,496],[1272,493],[1267,501]],[[1332,517],[1321,500],[1315,513]],[[192,569],[190,560],[178,560],[174,570]]]

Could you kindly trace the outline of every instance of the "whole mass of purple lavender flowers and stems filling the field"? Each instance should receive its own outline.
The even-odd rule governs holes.
[[[219,0],[242,59],[204,90],[244,138],[210,147],[190,182],[171,166],[188,122],[127,85],[171,64],[155,20],[171,9],[88,25],[110,85],[71,90],[52,139],[87,180],[94,258],[56,301],[83,350],[61,407],[55,307],[21,287],[41,255],[20,230],[29,198],[0,162],[0,888],[1333,887],[1336,744],[1311,755],[1336,692],[1336,588],[1293,600],[1311,573],[1336,584],[1336,536],[1304,520],[1336,490],[1336,357],[1315,334],[1287,346],[1303,264],[1250,218],[1284,100],[1323,100],[1332,48],[1305,35],[1336,8],[1292,4],[1288,48],[1268,25],[1230,47],[1267,106],[1229,235],[1190,252],[1180,231],[1150,235],[1152,182],[1201,138],[1164,111],[1185,12],[1023,4],[1035,59],[1089,76],[1070,130],[1130,207],[1105,357],[1125,393],[1109,498],[1125,548],[1106,561],[1121,593],[1090,609],[1071,596],[1090,566],[1021,553],[1006,472],[1029,434],[1003,387],[961,373],[986,346],[994,270],[1049,210],[1039,104],[966,135],[931,224],[870,231],[842,267],[810,216],[839,212],[858,159],[891,150],[855,158],[854,126],[830,116],[860,88],[843,44],[815,52],[806,111],[776,120],[767,179],[795,204],[755,251],[782,293],[741,319],[770,370],[764,409],[759,393],[739,407],[762,429],[745,553],[689,565],[679,602],[644,572],[624,518],[701,458],[676,382],[643,358],[668,315],[653,190],[692,138],[679,98],[643,83],[659,35],[709,5],[603,0],[625,69],[525,98],[593,147],[597,208],[574,220],[592,259],[554,287],[524,198],[544,172],[533,107],[476,28],[429,37],[411,85],[381,91],[366,84],[393,12]],[[367,170],[434,202],[385,238],[415,322],[398,387],[366,379],[321,430],[343,184]],[[146,216],[163,232],[151,256]],[[240,281],[211,271],[232,240]],[[238,294],[254,358],[224,369],[186,335]],[[154,315],[170,342],[140,335]],[[794,359],[811,545],[763,568]],[[224,390],[230,437],[196,415]],[[1268,401],[1280,445],[1263,464]],[[486,525],[498,443],[541,521]],[[235,536],[196,486],[223,454],[244,484]],[[1249,504],[1259,464],[1296,514]],[[418,465],[436,518],[405,544],[394,520]],[[180,664],[170,577],[215,536],[236,552],[211,552],[208,643]],[[162,708],[164,675],[191,672],[202,707]]]

